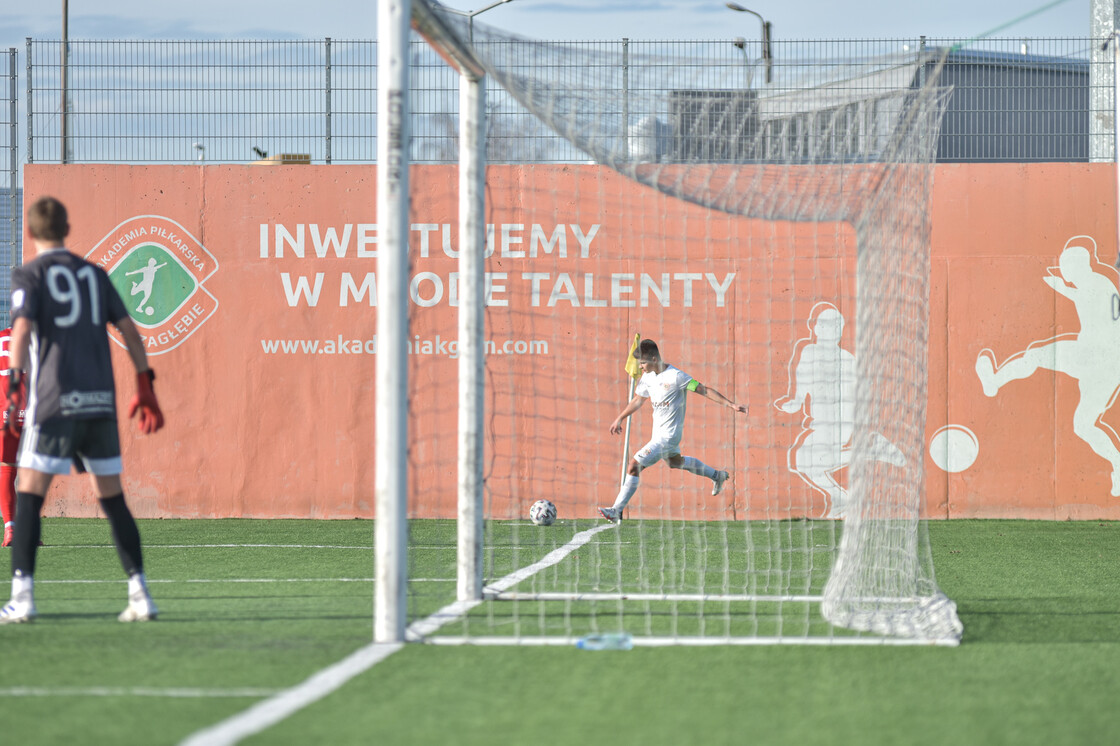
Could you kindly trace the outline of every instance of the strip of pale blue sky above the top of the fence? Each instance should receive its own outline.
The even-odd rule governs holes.
[[[493,0],[447,4],[477,10]],[[1052,0],[743,0],[773,24],[775,39],[971,38]],[[1089,36],[1092,0],[1065,0],[997,36]],[[69,0],[73,39],[213,39],[376,37],[370,0]],[[8,2],[0,11],[0,48],[57,39],[62,2]],[[758,19],[722,0],[511,0],[478,22],[542,39],[719,39],[759,34]]]

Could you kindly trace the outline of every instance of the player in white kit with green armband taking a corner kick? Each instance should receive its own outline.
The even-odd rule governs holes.
[[[698,458],[681,456],[685,394],[689,391],[694,391],[717,404],[730,407],[736,412],[747,413],[745,404],[736,404],[715,389],[706,386],[661,360],[657,344],[652,339],[643,339],[638,344],[635,360],[642,369],[642,379],[634,388],[634,398],[610,423],[610,432],[615,435],[622,432],[626,418],[641,409],[648,399],[653,404],[653,437],[634,454],[634,458],[626,466],[626,478],[618,491],[618,496],[615,497],[614,505],[599,509],[599,514],[612,523],[617,523],[622,519],[623,510],[637,492],[638,475],[642,470],[662,459],[670,468],[684,469],[711,479],[715,483],[711,488],[712,495],[718,495],[724,489],[724,483],[730,476],[727,472],[713,469]]]

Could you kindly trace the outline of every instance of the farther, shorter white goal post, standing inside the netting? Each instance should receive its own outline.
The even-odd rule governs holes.
[[[459,600],[483,597],[486,78],[459,75]]]

